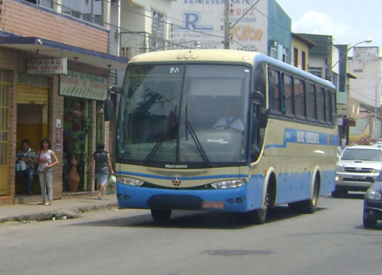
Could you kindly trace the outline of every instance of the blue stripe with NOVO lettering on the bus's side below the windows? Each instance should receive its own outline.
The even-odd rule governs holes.
[[[285,148],[288,143],[338,146],[339,142],[340,138],[338,138],[338,135],[328,135],[319,132],[285,128],[284,143],[266,145],[265,149],[272,147]]]

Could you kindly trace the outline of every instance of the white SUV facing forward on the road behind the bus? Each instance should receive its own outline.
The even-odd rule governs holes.
[[[333,197],[347,191],[366,191],[382,170],[382,150],[378,146],[345,147],[337,162]]]

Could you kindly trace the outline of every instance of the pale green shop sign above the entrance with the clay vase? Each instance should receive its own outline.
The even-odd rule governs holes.
[[[108,98],[108,79],[93,74],[68,71],[59,77],[59,94],[104,101]]]

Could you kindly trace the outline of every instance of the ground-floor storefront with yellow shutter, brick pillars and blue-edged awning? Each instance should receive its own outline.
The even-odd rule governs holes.
[[[57,59],[67,60],[66,72],[54,67],[28,71],[30,60]],[[16,178],[16,152],[25,139],[36,152],[42,138],[51,141],[59,159],[54,167],[54,198],[94,191],[94,174],[85,173],[88,159],[96,142],[107,143],[110,134],[97,109],[107,98],[108,85],[114,84],[111,69],[124,68],[126,62],[42,38],[0,38],[0,205],[40,200],[37,174],[33,196],[24,194],[25,180]],[[73,187],[69,177],[74,170],[79,182]]]

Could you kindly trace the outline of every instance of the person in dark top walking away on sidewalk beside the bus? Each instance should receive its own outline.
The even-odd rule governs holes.
[[[109,173],[114,174],[114,171],[112,170],[110,155],[108,151],[105,151],[105,144],[98,143],[96,149],[96,152],[94,152],[91,157],[86,174],[89,174],[93,163],[96,162],[96,181],[99,190],[98,198],[102,200],[106,184],[108,184]]]

